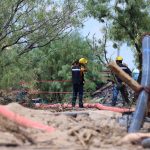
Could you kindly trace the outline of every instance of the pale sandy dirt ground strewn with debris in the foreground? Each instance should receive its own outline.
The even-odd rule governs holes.
[[[25,128],[0,116],[0,150],[141,150],[139,144],[120,144],[127,129],[116,120],[122,114],[96,109],[35,110],[17,103],[7,108],[26,118],[52,126],[48,133]],[[57,113],[56,113],[57,112]],[[78,112],[71,116],[68,112]]]

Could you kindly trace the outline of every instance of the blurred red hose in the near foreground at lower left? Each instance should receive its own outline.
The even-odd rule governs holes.
[[[35,129],[40,129],[40,130],[44,130],[47,132],[52,132],[55,129],[53,127],[38,123],[38,122],[34,122],[32,120],[29,120],[23,116],[20,116],[12,111],[10,111],[9,109],[6,108],[6,106],[1,106],[0,105],[0,115],[19,124],[22,125],[24,127],[30,127],[30,128],[35,128]]]

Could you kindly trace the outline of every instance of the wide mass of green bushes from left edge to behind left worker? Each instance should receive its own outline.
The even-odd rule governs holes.
[[[10,49],[3,56],[3,61],[11,60],[12,62],[16,56],[17,50],[12,51]],[[7,57],[9,59],[5,59]],[[52,42],[51,47],[46,46],[31,51],[17,59],[17,62],[14,61],[5,66],[0,80],[1,88],[19,88],[18,83],[22,81],[28,83],[25,85],[28,88],[38,89],[39,91],[72,92],[71,65],[74,60],[81,57],[88,59],[88,72],[85,74],[85,91],[91,93],[102,82],[101,74],[99,73],[102,70],[102,66],[97,63],[89,44],[78,32],[73,32],[65,38]],[[49,82],[49,80],[56,81]],[[62,102],[69,101],[72,94],[54,93],[38,96],[49,99],[51,102]],[[89,96],[89,94],[85,96]]]

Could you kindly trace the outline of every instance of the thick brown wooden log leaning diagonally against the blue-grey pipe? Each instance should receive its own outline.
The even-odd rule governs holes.
[[[108,67],[110,67],[113,73],[115,73],[123,82],[128,84],[135,92],[139,93],[141,91],[142,86],[125,73],[115,62],[110,62]]]

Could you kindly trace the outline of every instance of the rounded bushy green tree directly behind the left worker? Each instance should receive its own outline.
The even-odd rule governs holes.
[[[86,40],[80,36],[78,32],[73,32],[65,38],[54,42],[51,45],[51,48],[47,47],[42,52],[45,57],[43,57],[44,59],[41,59],[39,63],[39,72],[36,72],[38,79],[71,81],[72,62],[81,57],[86,57],[89,61],[89,71],[85,76],[85,91],[91,92],[95,90],[97,84],[102,82],[99,73],[102,66],[92,61],[93,52]],[[71,82],[38,84],[37,88],[49,92],[72,92]],[[63,99],[68,100],[68,98],[70,98],[70,95],[62,95],[58,93],[53,94],[51,100],[62,101]]]

